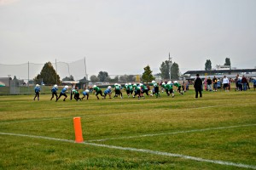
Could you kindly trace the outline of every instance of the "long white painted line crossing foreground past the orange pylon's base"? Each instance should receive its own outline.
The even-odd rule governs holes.
[[[35,135],[27,135],[27,134],[19,134],[19,133],[0,133],[0,134],[10,135],[10,136],[20,136],[20,137],[33,138],[33,139],[48,139],[48,140],[68,142],[68,143],[73,143],[73,144],[86,144],[86,145],[92,145],[92,146],[103,147],[103,148],[108,148],[108,149],[128,150],[128,151],[134,151],[134,152],[153,154],[153,155],[157,155],[157,156],[179,157],[179,158],[183,158],[183,159],[187,159],[187,160],[209,162],[209,163],[220,164],[220,165],[224,165],[224,166],[256,169],[256,166],[254,166],[254,165],[234,163],[234,162],[230,162],[230,161],[208,160],[208,159],[203,159],[201,157],[185,156],[185,155],[181,155],[181,154],[173,154],[173,153],[169,153],[169,152],[162,152],[162,151],[155,151],[155,150],[144,150],[144,149],[121,147],[121,146],[114,146],[114,145],[107,145],[107,144],[96,144],[96,143],[89,143],[89,142],[74,143],[73,140],[68,140],[68,139],[56,139],[56,138],[49,138],[49,137],[44,137],[44,136],[35,136]]]

